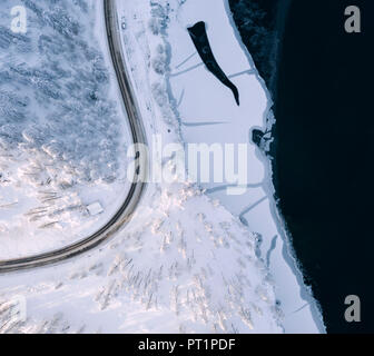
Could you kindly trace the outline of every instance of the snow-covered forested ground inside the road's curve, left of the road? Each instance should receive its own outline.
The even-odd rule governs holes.
[[[21,3],[24,34],[11,30],[14,2],[0,9],[0,259],[95,233],[129,187],[102,13],[92,1]]]

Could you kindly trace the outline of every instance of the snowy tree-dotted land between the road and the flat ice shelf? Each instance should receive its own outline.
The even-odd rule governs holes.
[[[155,90],[166,77],[150,67],[164,38],[148,24],[165,19],[151,17],[148,1],[124,2],[119,13],[131,19],[122,21],[124,43],[147,132],[178,142],[169,99]],[[164,165],[173,171],[171,160]],[[110,243],[58,266],[0,276],[0,332],[280,333],[274,280],[257,244],[195,185],[150,184]],[[24,320],[12,315],[14,303]]]

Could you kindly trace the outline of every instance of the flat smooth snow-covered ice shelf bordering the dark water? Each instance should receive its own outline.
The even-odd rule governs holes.
[[[139,37],[144,31],[139,24],[142,9],[141,2],[136,16],[126,16],[125,20],[132,30],[138,26]],[[224,0],[158,1],[152,6],[152,19],[149,21],[154,37],[148,36],[148,46],[159,53],[150,65],[166,80],[154,85],[154,89],[157,92],[164,89],[171,102],[173,113],[168,106],[163,106],[163,116],[171,122],[175,119],[179,121],[181,138],[186,142],[249,144],[248,187],[245,194],[228,195],[227,185],[223,184],[201,186],[211,198],[218,199],[260,237],[260,257],[275,280],[285,332],[323,332],[321,313],[309,290],[303,285],[282,219],[276,211],[269,161],[250,139],[253,129],[269,129],[273,121],[269,110],[272,101],[235,30],[228,3]],[[239,89],[240,106],[235,103],[230,90],[201,63],[187,31],[188,27],[198,21],[206,22],[213,52],[222,69]],[[145,47],[145,43],[141,46]],[[159,63],[166,63],[163,70]]]

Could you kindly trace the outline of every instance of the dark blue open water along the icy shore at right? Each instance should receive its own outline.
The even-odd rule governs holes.
[[[246,30],[239,2],[266,13],[258,27],[267,40]],[[344,31],[351,4],[361,8],[362,33]],[[258,50],[254,60],[275,99],[274,185],[305,281],[327,332],[372,333],[374,1],[293,0],[280,37],[276,1],[230,6],[249,51]],[[361,298],[361,323],[344,318],[352,294]]]

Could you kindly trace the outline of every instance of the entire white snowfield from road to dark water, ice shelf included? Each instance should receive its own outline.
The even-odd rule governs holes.
[[[102,43],[102,3],[79,1],[86,2],[96,6],[96,33]],[[203,66],[173,76],[199,63],[195,55],[180,65],[195,51],[186,26],[197,20],[207,21],[213,50],[226,72],[254,69],[235,37],[225,1],[117,6],[149,137],[248,142],[249,129],[264,127],[269,101],[257,76],[232,78],[240,107]],[[200,125],[216,121],[225,123]],[[314,300],[297,281],[274,214],[267,161],[255,146],[248,160],[256,188],[245,195],[227,197],[210,186],[204,188],[218,189],[206,195],[188,182],[149,184],[132,220],[111,241],[61,265],[0,276],[0,333],[318,332]],[[170,172],[174,165],[164,161]],[[262,212],[246,209],[262,198]],[[262,244],[254,231],[262,234]],[[23,300],[26,320],[12,315],[12,300]]]

